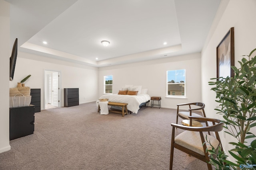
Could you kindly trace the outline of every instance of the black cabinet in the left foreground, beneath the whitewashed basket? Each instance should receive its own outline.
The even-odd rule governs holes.
[[[34,105],[10,108],[10,140],[34,133]]]

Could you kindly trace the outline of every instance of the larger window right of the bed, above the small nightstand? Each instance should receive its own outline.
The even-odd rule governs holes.
[[[186,70],[168,70],[167,71],[167,95],[166,96],[184,96],[186,94]]]

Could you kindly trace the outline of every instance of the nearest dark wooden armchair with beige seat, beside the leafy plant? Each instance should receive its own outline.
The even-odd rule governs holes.
[[[206,152],[206,148],[210,147],[210,145],[206,145],[208,143],[204,143],[206,140],[210,141],[211,145],[214,148],[217,148],[221,145],[220,136],[218,134],[219,131],[222,131],[224,123],[221,123],[219,119],[211,119],[207,117],[194,117],[189,116],[190,121],[192,119],[196,119],[198,121],[211,121],[212,126],[204,126],[204,127],[191,127],[191,126],[183,126],[172,123],[172,141],[171,141],[171,154],[170,154],[170,170],[172,170],[173,164],[173,155],[174,148],[179,149],[195,158],[198,158],[204,162],[208,162],[210,160],[209,153]],[[218,123],[218,124],[216,124]],[[175,129],[184,129],[185,131],[180,133],[175,137]],[[216,137],[208,135],[203,132],[214,132]],[[204,145],[203,145],[204,143]],[[208,170],[212,170],[211,164],[208,164]]]

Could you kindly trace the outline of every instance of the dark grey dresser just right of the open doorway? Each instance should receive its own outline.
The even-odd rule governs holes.
[[[79,105],[79,88],[64,88],[64,106]]]

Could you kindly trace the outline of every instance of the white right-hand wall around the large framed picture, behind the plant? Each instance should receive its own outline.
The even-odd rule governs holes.
[[[226,8],[225,8],[226,6]],[[206,104],[206,115],[208,117],[222,118],[216,115],[214,108],[218,105],[215,101],[215,93],[210,91],[212,86],[208,85],[210,78],[216,77],[216,47],[231,27],[234,27],[235,66],[242,59],[242,55],[256,48],[256,1],[255,0],[223,0],[220,4],[219,13],[216,15],[216,23],[210,34],[212,37],[205,44],[202,51],[202,100]],[[220,14],[221,13],[221,14]],[[251,129],[256,134],[256,128]],[[225,150],[233,148],[228,142],[234,141],[230,135],[226,138],[220,135]]]

